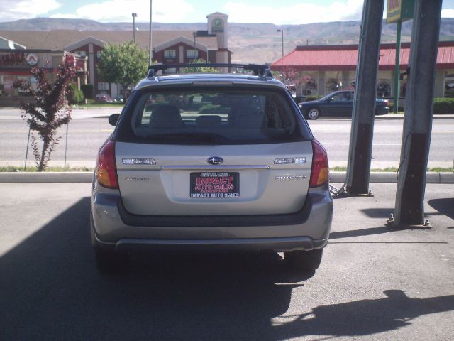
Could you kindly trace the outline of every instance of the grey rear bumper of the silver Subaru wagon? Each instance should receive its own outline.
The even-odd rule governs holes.
[[[289,215],[221,217],[131,215],[117,193],[94,190],[92,241],[116,251],[310,250],[328,242],[332,215],[327,188],[310,190]]]

